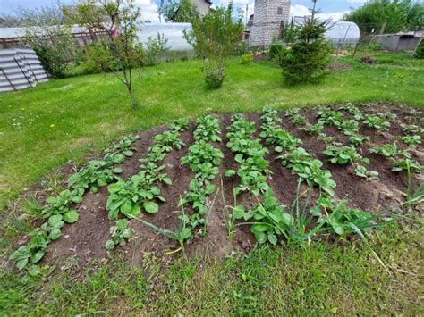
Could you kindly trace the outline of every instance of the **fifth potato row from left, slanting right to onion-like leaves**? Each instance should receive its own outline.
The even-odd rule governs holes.
[[[323,163],[300,146],[301,139],[282,129],[281,122],[276,111],[265,108],[261,116],[260,135],[265,138],[267,145],[275,146],[276,153],[280,153],[276,159],[280,160],[284,167],[291,168],[299,177],[298,194],[293,201],[290,213],[292,217],[295,217],[293,226],[287,231],[289,238],[310,240],[318,232],[333,231],[338,235],[345,235],[357,232],[357,229],[369,229],[382,225],[375,223],[377,217],[370,213],[348,207],[346,200],[335,200],[336,184],[331,172],[323,170]],[[300,205],[301,181],[306,181],[310,188],[319,188],[318,201],[310,208],[310,196],[307,197],[303,207]],[[307,231],[313,217],[318,217],[318,221],[312,229]]]

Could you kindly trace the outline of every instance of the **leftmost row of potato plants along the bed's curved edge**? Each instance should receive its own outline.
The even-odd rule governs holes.
[[[41,210],[43,218],[47,219],[39,228],[30,231],[30,240],[25,246],[20,246],[10,260],[16,262],[16,268],[28,268],[31,274],[39,271],[38,262],[46,254],[49,243],[62,236],[65,223],[71,224],[79,220],[79,214],[72,208],[73,204],[80,204],[82,196],[91,190],[98,192],[98,188],[117,179],[122,172],[116,164],[123,163],[125,157],[134,153],[132,144],[138,136],[130,135],[123,138],[118,144],[106,150],[101,160],[92,160],[80,171],[72,174],[68,179],[68,188],[58,196],[49,196]]]

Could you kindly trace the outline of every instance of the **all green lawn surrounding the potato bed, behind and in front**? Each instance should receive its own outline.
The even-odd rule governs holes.
[[[360,53],[370,54],[370,53]],[[272,63],[233,60],[222,89],[205,89],[199,61],[137,70],[138,111],[113,74],[51,80],[37,88],[0,95],[0,209],[22,189],[47,179],[56,167],[104,149],[115,139],[178,117],[259,111],[343,102],[388,101],[424,106],[424,61],[408,54],[375,54],[376,65],[352,63],[316,86],[287,88]],[[349,63],[347,56],[342,63]],[[30,201],[4,222],[0,259],[30,229],[21,219]],[[411,215],[411,218],[414,218]],[[336,243],[258,247],[225,261],[177,259],[161,270],[155,257],[143,267],[117,259],[98,264],[85,279],[45,268],[40,278],[0,268],[0,315],[148,314],[422,314],[421,223],[402,221],[374,231],[372,249],[357,238]]]

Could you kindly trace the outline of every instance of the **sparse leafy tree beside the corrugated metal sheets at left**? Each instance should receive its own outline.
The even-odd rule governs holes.
[[[74,42],[60,8],[21,9],[17,19],[25,27],[24,43],[36,52],[44,69],[53,78],[64,78]]]

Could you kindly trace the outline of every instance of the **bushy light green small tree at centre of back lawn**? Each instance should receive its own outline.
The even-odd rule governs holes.
[[[208,88],[220,88],[225,78],[226,61],[237,50],[242,36],[242,15],[233,14],[233,3],[218,7],[191,21],[191,31],[184,38],[199,57],[205,59],[203,72]]]

